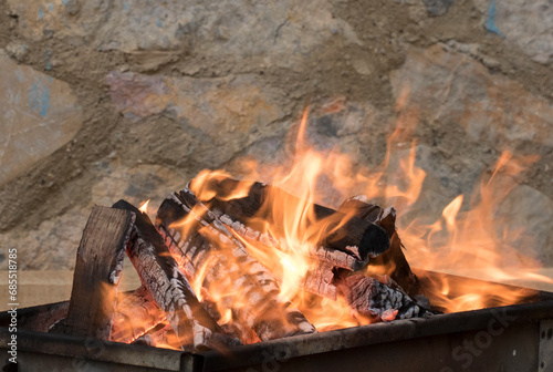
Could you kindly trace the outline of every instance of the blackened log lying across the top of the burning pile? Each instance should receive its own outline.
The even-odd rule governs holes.
[[[275,216],[268,200],[278,200],[292,209],[305,204],[278,187],[261,183],[213,178],[202,185],[192,180],[190,188],[195,187],[199,189],[200,202],[220,217],[221,221],[240,231],[240,235],[270,246],[274,246],[273,240],[283,240],[281,238],[285,236],[285,221],[283,217]],[[389,247],[386,231],[368,220],[347,216],[317,204],[309,204],[307,209],[313,210],[314,217],[307,221],[306,232],[322,237],[321,241],[310,249],[310,255],[320,259],[336,260],[331,261],[334,266],[351,268],[353,265],[354,269],[358,269],[366,265],[371,257],[383,254]],[[271,226],[272,237],[267,234],[268,225]],[[343,255],[334,252],[345,254],[351,259],[344,259]]]

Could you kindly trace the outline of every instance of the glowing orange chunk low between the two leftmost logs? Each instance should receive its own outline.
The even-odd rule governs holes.
[[[117,298],[112,341],[131,343],[166,319],[165,312],[159,309],[145,286],[132,293],[118,294]]]

